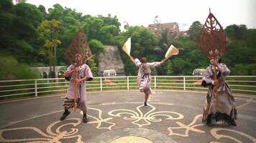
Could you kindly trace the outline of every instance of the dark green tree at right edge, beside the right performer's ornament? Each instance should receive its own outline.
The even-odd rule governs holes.
[[[232,75],[255,75],[256,70],[256,30],[245,25],[230,25],[226,29],[230,44],[222,56]]]

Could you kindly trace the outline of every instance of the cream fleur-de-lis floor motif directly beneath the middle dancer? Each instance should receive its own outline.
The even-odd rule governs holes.
[[[161,111],[161,112],[154,112],[155,107],[152,106],[152,104],[148,104],[148,108],[150,109],[149,112],[143,114],[141,108],[143,105],[138,106],[137,112],[132,111],[130,109],[116,109],[110,111],[108,114],[112,117],[122,117],[124,116],[123,119],[128,120],[128,121],[133,121],[132,124],[136,124],[138,127],[143,127],[150,125],[151,122],[162,122],[163,119],[160,117],[166,117],[165,119],[183,119],[184,116],[183,114],[179,114],[177,112],[169,112],[169,111]],[[175,117],[173,117],[175,116]]]

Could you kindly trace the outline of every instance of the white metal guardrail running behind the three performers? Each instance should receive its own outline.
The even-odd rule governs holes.
[[[157,90],[195,90],[206,91],[201,87],[201,76],[152,76],[151,87]],[[255,94],[256,76],[227,77],[234,93]],[[0,81],[0,99],[9,97],[31,97],[46,94],[64,94],[68,81],[61,79],[24,79]],[[137,77],[94,77],[86,82],[87,92],[106,90],[138,89]]]

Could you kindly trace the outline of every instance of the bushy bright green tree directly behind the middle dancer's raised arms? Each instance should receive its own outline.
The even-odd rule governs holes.
[[[127,75],[137,74],[137,67],[134,66],[134,63],[130,61],[129,57],[124,54],[124,51],[121,49],[128,37],[132,39],[132,56],[139,59],[142,56],[146,56],[149,61],[160,60],[159,56],[154,55],[155,48],[158,44],[157,36],[144,26],[129,26],[127,31],[122,32],[119,36],[115,36],[114,38],[116,45],[119,46],[119,50],[121,51],[120,53],[124,61],[124,69]],[[154,69],[154,72],[156,73],[157,71]]]

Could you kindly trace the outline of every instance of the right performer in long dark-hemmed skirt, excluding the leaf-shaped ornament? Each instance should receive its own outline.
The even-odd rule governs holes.
[[[216,67],[217,79],[214,80],[214,66]],[[209,90],[204,104],[203,122],[209,127],[212,127],[211,121],[216,122],[222,120],[233,126],[237,126],[234,119],[237,119],[237,109],[234,107],[234,97],[232,96],[229,84],[225,81],[230,73],[226,64],[218,63],[211,59],[211,65],[206,68],[202,86],[209,86]],[[217,88],[217,90],[216,90]],[[219,92],[218,99],[216,99],[216,92]],[[216,106],[218,102],[218,107]]]

